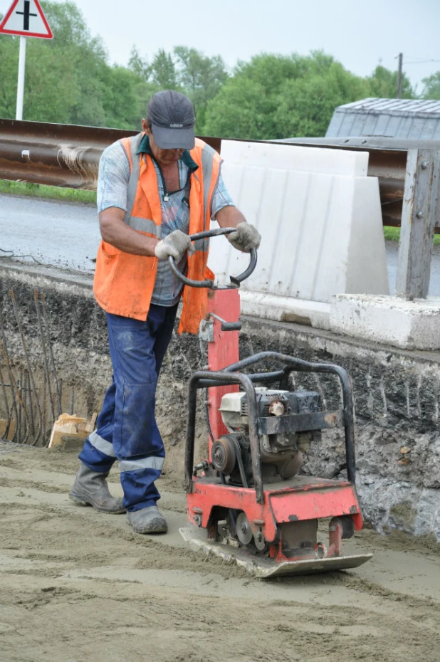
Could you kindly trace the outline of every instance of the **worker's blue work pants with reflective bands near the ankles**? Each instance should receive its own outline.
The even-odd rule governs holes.
[[[150,306],[145,322],[107,313],[112,384],[97,429],[85,441],[80,461],[108,473],[117,459],[127,510],[154,505],[165,450],[154,417],[156,386],[172,337],[177,305]]]

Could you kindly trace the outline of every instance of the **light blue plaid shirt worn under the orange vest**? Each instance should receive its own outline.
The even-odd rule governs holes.
[[[151,154],[150,142],[145,136],[140,145],[138,153]],[[157,162],[153,159],[157,174],[159,188],[160,206],[162,209],[162,239],[174,230],[182,230],[189,233],[189,189],[190,175],[197,169],[188,151],[179,159],[179,181],[181,188],[174,193],[164,191],[164,182]],[[100,160],[98,177],[98,212],[109,207],[119,207],[127,211],[127,184],[130,179],[130,165],[125,151],[120,142],[115,142],[107,147]],[[229,196],[223,177],[219,177],[211,203],[211,219],[223,207],[234,206]],[[187,273],[187,253],[178,263],[179,270]],[[154,283],[152,303],[156,305],[172,306],[179,302],[182,294],[183,283],[176,278],[169,268],[167,260],[159,260],[157,264],[157,276]]]

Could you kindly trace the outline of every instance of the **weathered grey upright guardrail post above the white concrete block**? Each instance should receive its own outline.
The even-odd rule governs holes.
[[[440,215],[440,152],[409,149],[397,263],[396,294],[426,298],[434,227]]]

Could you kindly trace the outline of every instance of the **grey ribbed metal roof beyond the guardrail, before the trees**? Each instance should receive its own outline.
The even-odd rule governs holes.
[[[338,106],[325,137],[383,136],[440,140],[440,101],[363,99]]]

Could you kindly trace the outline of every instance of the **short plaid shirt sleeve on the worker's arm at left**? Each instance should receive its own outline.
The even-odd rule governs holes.
[[[98,174],[98,213],[109,207],[127,211],[127,186],[130,179],[130,164],[120,142],[104,150]]]

